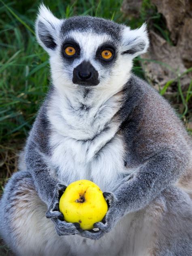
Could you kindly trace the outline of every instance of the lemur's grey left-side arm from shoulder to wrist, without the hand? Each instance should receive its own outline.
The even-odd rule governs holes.
[[[56,187],[57,176],[49,164],[50,124],[46,116],[46,104],[38,112],[30,136],[26,143],[25,162],[32,174],[39,197],[50,205]]]

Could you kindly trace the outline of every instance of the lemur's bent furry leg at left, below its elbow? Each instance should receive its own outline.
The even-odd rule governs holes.
[[[45,218],[46,211],[30,173],[15,173],[0,201],[0,233],[16,255],[70,255],[53,222]]]

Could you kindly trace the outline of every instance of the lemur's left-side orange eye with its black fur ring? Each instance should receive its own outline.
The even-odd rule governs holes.
[[[75,42],[64,43],[62,47],[62,54],[65,58],[75,58],[80,54],[80,47]]]

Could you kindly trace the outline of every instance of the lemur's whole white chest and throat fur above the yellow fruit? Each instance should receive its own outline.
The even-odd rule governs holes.
[[[120,123],[114,118],[120,107],[118,99],[88,106],[89,111],[80,110],[80,103],[73,107],[70,104],[57,98],[48,110],[52,125],[51,165],[61,183],[89,179],[103,191],[113,191],[126,172],[122,137],[116,134]]]

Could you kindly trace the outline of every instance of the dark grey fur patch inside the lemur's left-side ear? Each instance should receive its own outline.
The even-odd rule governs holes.
[[[49,34],[47,28],[41,21],[38,22],[38,36],[47,48],[55,49],[57,46],[53,37]]]

